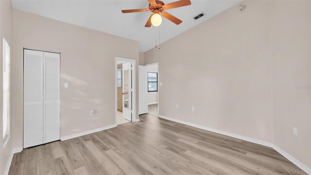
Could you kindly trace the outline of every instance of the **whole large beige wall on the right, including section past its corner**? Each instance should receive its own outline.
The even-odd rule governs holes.
[[[311,1],[242,3],[145,53],[159,62],[159,115],[275,143],[311,167]]]

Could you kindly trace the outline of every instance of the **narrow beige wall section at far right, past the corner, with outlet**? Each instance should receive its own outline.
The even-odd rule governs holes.
[[[274,143],[311,168],[311,1],[271,8]]]

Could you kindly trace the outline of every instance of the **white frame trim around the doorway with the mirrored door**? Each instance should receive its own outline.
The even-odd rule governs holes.
[[[115,59],[115,123],[118,125],[118,88],[117,88],[117,70],[118,61],[127,61],[132,63],[132,122],[139,122],[136,119],[136,60],[116,57]]]

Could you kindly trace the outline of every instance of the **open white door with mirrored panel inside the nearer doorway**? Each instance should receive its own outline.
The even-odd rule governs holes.
[[[132,63],[122,64],[123,118],[132,121]]]

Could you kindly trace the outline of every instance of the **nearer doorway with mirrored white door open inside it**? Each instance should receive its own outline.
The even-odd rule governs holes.
[[[116,124],[136,121],[135,60],[116,58]]]

